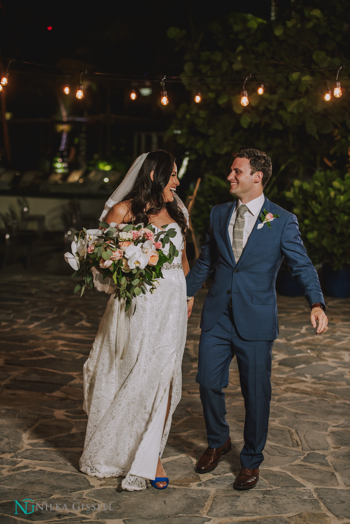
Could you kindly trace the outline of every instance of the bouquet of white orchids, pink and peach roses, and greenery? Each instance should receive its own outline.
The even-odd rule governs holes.
[[[116,285],[114,298],[125,299],[125,311],[132,304],[132,298],[146,291],[153,293],[164,278],[161,269],[171,264],[179,255],[170,238],[176,230],[169,229],[156,234],[155,228],[148,224],[107,224],[101,222],[103,230],[77,231],[72,242],[72,253],[64,258],[74,269],[72,278],[82,279],[74,288],[74,293],[86,287],[92,289],[92,268],[103,270],[103,279],[112,277]],[[162,226],[165,229],[167,225]],[[148,286],[148,288],[146,287]]]

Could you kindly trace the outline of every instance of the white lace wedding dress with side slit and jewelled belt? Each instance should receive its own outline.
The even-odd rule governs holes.
[[[187,332],[183,242],[179,225],[168,227],[176,228],[172,241],[179,256],[163,269],[165,278],[157,291],[141,294],[125,313],[124,351],[119,348],[120,302],[112,294],[84,365],[84,409],[89,421],[80,469],[99,478],[126,475],[122,487],[130,491],[145,489],[146,478],[155,479],[159,452],[181,398]],[[171,381],[171,407],[162,436]]]

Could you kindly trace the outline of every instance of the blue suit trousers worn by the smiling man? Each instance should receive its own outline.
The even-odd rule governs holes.
[[[251,319],[254,322],[254,319]],[[247,341],[237,332],[232,307],[220,320],[202,331],[198,375],[209,447],[221,447],[229,437],[223,388],[228,386],[229,365],[237,358],[240,389],[246,410],[242,467],[257,468],[263,462],[271,400],[271,349],[273,341]]]

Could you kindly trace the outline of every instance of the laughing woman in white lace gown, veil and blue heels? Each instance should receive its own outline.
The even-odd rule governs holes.
[[[172,227],[177,232],[172,242],[179,256],[163,266],[165,278],[157,291],[140,294],[127,312],[114,299],[113,281],[106,283],[94,271],[96,288],[112,296],[84,365],[89,420],[79,465],[99,478],[126,475],[122,487],[129,491],[145,489],[146,479],[157,489],[169,483],[160,457],[181,398],[189,271],[184,242],[188,212],[175,193],[178,185],[172,155],[145,153],[106,202],[100,219],[151,223],[157,231]]]

